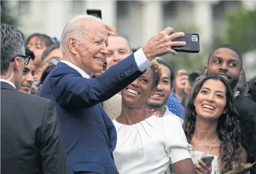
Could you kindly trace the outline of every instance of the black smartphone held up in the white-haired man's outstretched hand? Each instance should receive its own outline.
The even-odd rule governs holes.
[[[173,34],[174,32],[170,33]],[[169,35],[170,35],[169,34]],[[196,33],[185,33],[181,38],[176,38],[172,40],[175,41],[185,41],[186,45],[181,47],[172,47],[173,50],[177,52],[190,52],[190,53],[199,53],[200,51],[200,40],[199,34]]]

